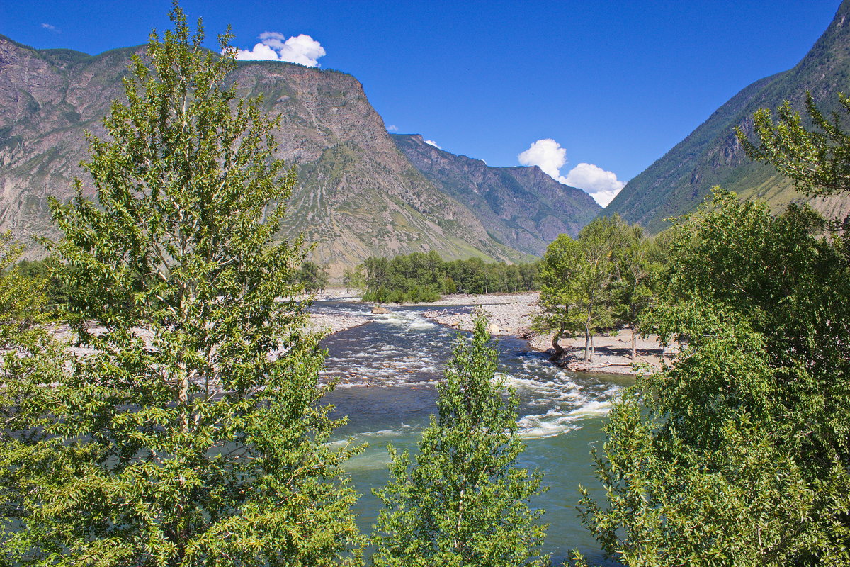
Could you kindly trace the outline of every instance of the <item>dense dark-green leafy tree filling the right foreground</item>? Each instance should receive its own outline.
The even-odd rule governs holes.
[[[615,404],[584,520],[629,565],[848,564],[850,266],[806,207],[716,190],[650,321],[686,339]]]

